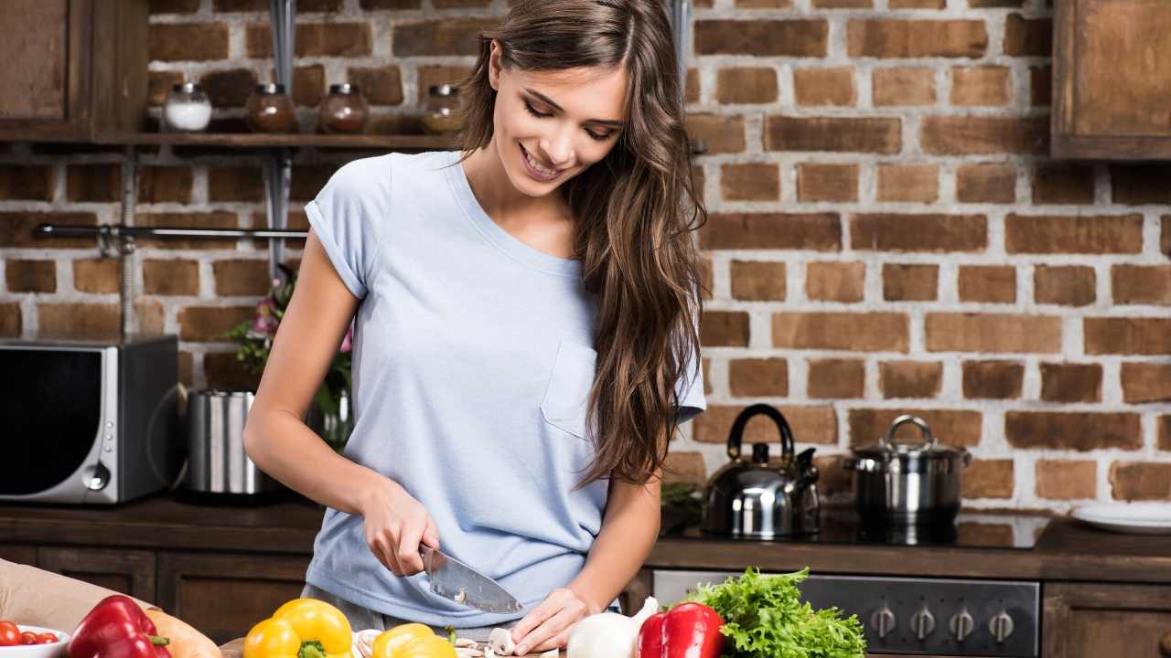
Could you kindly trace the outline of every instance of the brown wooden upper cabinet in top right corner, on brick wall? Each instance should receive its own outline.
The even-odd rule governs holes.
[[[1171,158],[1171,2],[1054,2],[1052,153]]]

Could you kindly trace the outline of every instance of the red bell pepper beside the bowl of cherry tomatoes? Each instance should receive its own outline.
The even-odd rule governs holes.
[[[132,598],[103,598],[77,624],[69,658],[171,658],[167,640]]]

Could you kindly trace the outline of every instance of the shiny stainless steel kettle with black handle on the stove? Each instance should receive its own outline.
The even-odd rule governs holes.
[[[768,444],[753,444],[752,458],[740,454],[744,427],[768,416],[781,433],[781,458],[771,459]],[[740,412],[728,434],[728,457],[712,474],[704,493],[700,530],[739,539],[774,539],[817,532],[817,467],[814,448],[794,457],[793,431],[785,416],[767,404]]]

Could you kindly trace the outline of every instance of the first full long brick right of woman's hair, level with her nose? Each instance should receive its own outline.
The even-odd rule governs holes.
[[[897,153],[903,148],[900,119],[895,117],[766,118],[766,151],[836,151]]]

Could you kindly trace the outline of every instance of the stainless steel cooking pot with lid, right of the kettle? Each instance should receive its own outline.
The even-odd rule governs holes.
[[[919,445],[896,444],[895,431],[912,424]],[[864,525],[952,523],[959,513],[964,467],[972,455],[941,445],[918,416],[899,416],[878,445],[854,448],[843,466],[854,471],[854,496]]]

